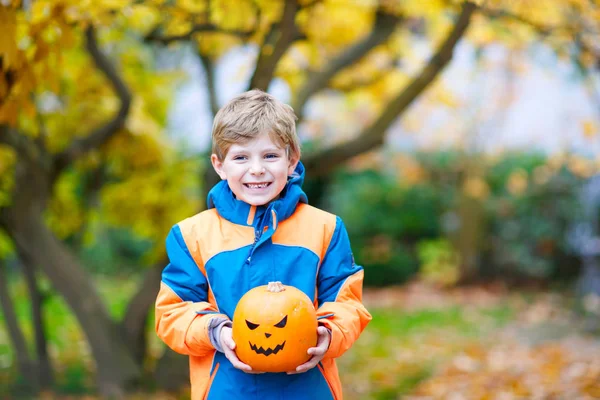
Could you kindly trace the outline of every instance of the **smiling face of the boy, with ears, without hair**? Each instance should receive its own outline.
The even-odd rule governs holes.
[[[263,133],[243,144],[233,144],[224,160],[216,154],[211,162],[238,200],[262,206],[279,196],[298,160],[288,159],[285,149]]]

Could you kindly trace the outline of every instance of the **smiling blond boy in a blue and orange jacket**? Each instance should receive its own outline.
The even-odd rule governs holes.
[[[371,319],[342,221],[309,206],[301,189],[295,120],[291,107],[259,90],[219,110],[211,162],[222,181],[208,195],[208,210],[167,237],[156,332],[190,356],[193,400],[339,400],[334,359]],[[295,371],[259,374],[235,355],[236,345],[247,344],[233,342],[231,319],[244,293],[271,281],[314,301],[318,341]]]

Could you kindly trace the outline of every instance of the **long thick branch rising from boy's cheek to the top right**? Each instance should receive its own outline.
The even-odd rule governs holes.
[[[304,161],[307,174],[311,176],[324,175],[344,161],[382,145],[387,128],[450,62],[454,48],[467,30],[476,8],[477,6],[471,2],[463,3],[461,14],[454,28],[419,75],[389,103],[387,109],[379,118],[372,125],[365,128],[358,137],[309,155]]]

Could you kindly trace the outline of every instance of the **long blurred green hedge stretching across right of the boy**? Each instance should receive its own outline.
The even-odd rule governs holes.
[[[425,247],[417,254],[419,243],[445,243],[450,247],[444,247],[444,254],[460,256],[452,246],[467,225],[460,220],[467,215],[460,207],[474,163],[484,188],[475,201],[482,210],[481,221],[475,221],[481,237],[474,241],[479,276],[551,279],[558,272],[577,273],[566,233],[581,218],[578,192],[585,178],[565,166],[549,166],[538,153],[506,154],[494,161],[477,157],[416,154],[424,170],[417,182],[407,182],[402,171],[392,169],[345,170],[333,177],[324,205],[344,219],[355,258],[365,267],[366,285],[405,282],[420,264],[427,264],[429,273],[439,267],[439,260],[425,257],[432,254]],[[456,273],[456,268],[446,270]]]

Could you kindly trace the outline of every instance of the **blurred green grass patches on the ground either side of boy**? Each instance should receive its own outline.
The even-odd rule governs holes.
[[[98,278],[97,287],[111,315],[120,318],[136,287],[135,279]],[[29,301],[23,282],[10,282],[22,328],[31,342]],[[514,316],[508,301],[487,306],[448,306],[402,310],[371,306],[373,320],[350,351],[339,360],[345,398],[397,399],[429,378],[444,360],[481,342]],[[93,360],[84,336],[66,304],[52,296],[45,308],[50,354],[57,373],[57,392],[93,394]],[[150,354],[162,345],[148,325]],[[14,354],[0,314],[0,398],[17,381]],[[4,393],[3,393],[4,390]]]

